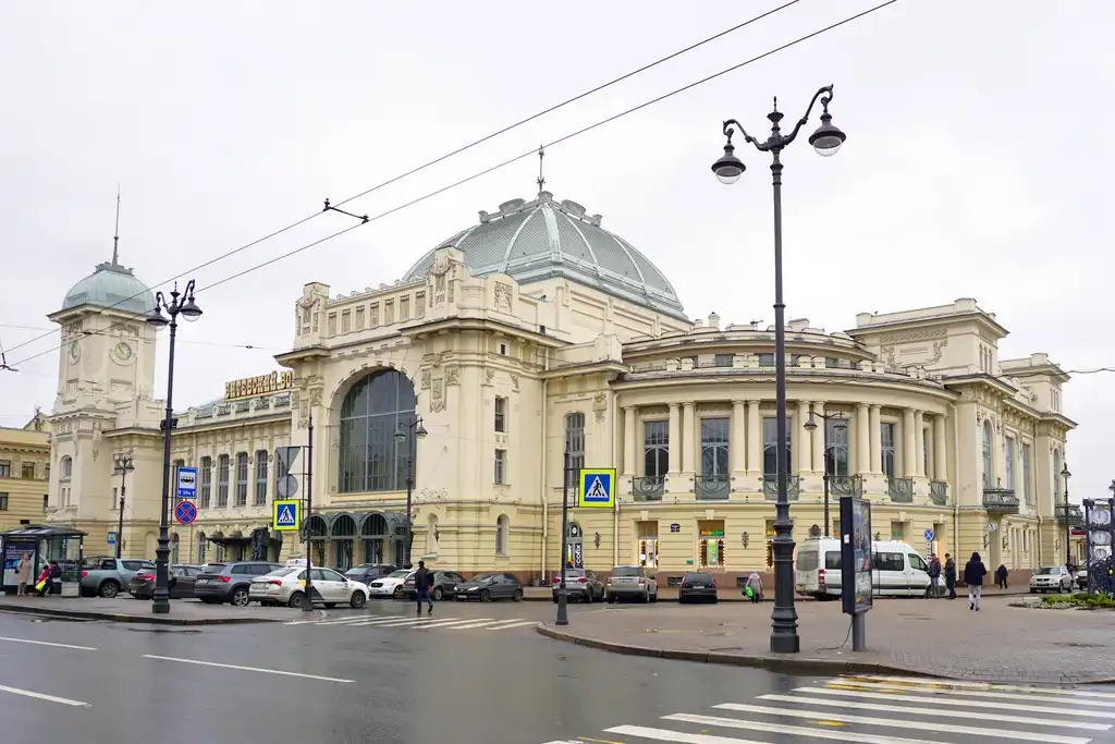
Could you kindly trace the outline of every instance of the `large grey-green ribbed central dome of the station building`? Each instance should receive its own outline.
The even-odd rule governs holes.
[[[642,253],[585,215],[576,202],[555,202],[543,191],[526,202],[515,199],[496,214],[481,212],[479,224],[457,233],[424,255],[406,273],[419,279],[434,264],[434,252],[452,245],[465,254],[476,276],[505,273],[521,283],[561,276],[673,318],[688,320],[673,287]]]

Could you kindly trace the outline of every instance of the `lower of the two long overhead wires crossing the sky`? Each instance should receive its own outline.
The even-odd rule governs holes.
[[[704,77],[704,78],[701,78],[699,80],[696,80],[696,81],[690,83],[688,85],[685,85],[685,86],[682,86],[680,88],[671,90],[670,93],[667,93],[667,94],[663,94],[661,96],[658,96],[657,98],[652,98],[652,99],[650,99],[648,102],[639,104],[638,106],[632,106],[631,108],[628,108],[628,109],[626,109],[623,112],[620,112],[619,114],[614,114],[614,115],[609,116],[608,118],[601,119],[601,120],[599,120],[599,122],[597,122],[594,124],[590,124],[589,126],[585,126],[585,127],[582,127],[580,129],[576,129],[575,132],[571,132],[570,134],[566,134],[563,137],[559,137],[558,139],[554,139],[553,142],[545,143],[543,145],[543,147],[549,148],[549,147],[553,147],[554,145],[559,145],[559,144],[569,142],[570,139],[572,139],[574,137],[578,137],[578,136],[580,136],[582,134],[586,134],[589,132],[592,132],[593,129],[597,129],[598,127],[601,127],[601,126],[603,126],[605,124],[610,124],[612,122],[615,122],[615,120],[618,120],[620,118],[623,118],[624,116],[628,116],[629,114],[633,114],[636,112],[642,110],[643,108],[647,108],[648,106],[652,106],[653,104],[661,103],[661,102],[666,100],[667,98],[671,98],[671,97],[673,97],[673,96],[676,96],[678,94],[685,93],[687,90],[691,90],[692,88],[696,88],[697,86],[700,86],[700,85],[704,85],[704,84],[709,83],[711,80],[715,80],[717,78],[720,78],[720,77],[723,77],[723,76],[725,76],[725,75],[727,75],[729,73],[734,73],[734,71],[736,71],[736,70],[738,70],[740,68],[744,68],[744,67],[746,67],[748,65],[757,62],[757,61],[759,61],[762,59],[766,59],[767,57],[770,57],[772,55],[775,55],[775,54],[777,54],[779,51],[784,51],[785,49],[789,49],[791,47],[794,47],[794,46],[796,46],[798,44],[802,44],[803,41],[807,41],[809,39],[813,39],[813,38],[815,38],[817,36],[821,36],[822,33],[826,33],[827,31],[832,31],[832,30],[834,30],[836,28],[840,28],[841,26],[845,26],[846,23],[850,23],[850,22],[852,22],[854,20],[859,20],[859,19],[861,19],[861,18],[863,18],[863,17],[870,15],[870,13],[875,12],[876,10],[882,10],[883,8],[886,8],[888,6],[892,6],[895,2],[898,2],[898,1],[899,0],[886,0],[886,2],[882,2],[882,3],[878,4],[878,6],[869,8],[867,10],[859,12],[859,13],[856,13],[854,16],[850,16],[850,17],[841,20],[841,21],[837,21],[835,23],[831,23],[831,25],[828,25],[828,26],[826,26],[824,28],[817,29],[816,31],[807,33],[807,35],[805,35],[803,37],[798,37],[797,39],[794,39],[793,41],[788,41],[788,42],[786,42],[786,44],[784,44],[782,46],[778,46],[778,47],[775,47],[774,49],[770,49],[769,51],[765,51],[762,55],[758,55],[756,57],[752,57],[750,59],[747,59],[747,60],[745,60],[743,62],[739,62],[737,65],[733,65],[731,67],[728,67],[726,69],[720,70],[719,73],[714,73],[712,75],[709,75],[709,76]],[[359,228],[362,228],[362,226],[365,226],[367,224],[370,224],[371,222],[376,222],[377,220],[381,220],[381,219],[384,219],[386,216],[395,214],[396,212],[399,212],[399,211],[405,210],[407,207],[414,206],[415,204],[419,204],[419,203],[421,203],[421,202],[424,202],[424,201],[426,201],[428,199],[432,199],[433,196],[437,196],[438,194],[443,194],[446,191],[449,191],[450,189],[456,189],[457,186],[464,185],[464,184],[468,183],[469,181],[474,181],[476,178],[479,178],[481,176],[487,175],[488,173],[492,173],[494,171],[498,171],[501,168],[504,168],[504,167],[506,167],[506,166],[508,166],[508,165],[511,165],[513,163],[517,163],[521,160],[524,160],[526,157],[534,157],[536,155],[537,155],[537,149],[532,147],[531,149],[529,149],[529,151],[526,151],[526,152],[524,152],[524,153],[522,153],[520,155],[515,155],[514,157],[507,158],[507,160],[503,161],[502,163],[497,163],[496,165],[492,165],[492,166],[489,166],[487,168],[484,168],[483,171],[474,173],[473,175],[466,176],[466,177],[464,177],[464,178],[462,178],[459,181],[456,181],[454,183],[450,183],[450,184],[448,184],[446,186],[442,186],[440,189],[432,191],[432,192],[429,192],[429,193],[427,193],[427,194],[425,194],[423,196],[418,196],[417,199],[413,199],[409,202],[406,202],[404,204],[399,204],[398,206],[395,206],[395,207],[392,207],[390,210],[387,210],[386,212],[380,212],[379,214],[377,214],[375,216],[371,216],[371,218],[368,218],[367,220],[362,220],[361,222],[358,222],[357,224],[351,225],[350,228],[347,228],[345,230],[334,232],[331,235],[327,235],[326,238],[321,238],[321,239],[316,240],[316,241],[313,241],[311,243],[307,243],[306,245],[302,245],[301,248],[297,248],[297,249],[294,249],[292,251],[288,251],[287,253],[283,253],[281,255],[277,255],[274,258],[268,259],[266,261],[258,263],[258,264],[255,264],[253,267],[249,267],[248,269],[244,269],[243,271],[239,271],[239,272],[236,272],[234,274],[225,277],[224,279],[220,279],[220,280],[217,280],[217,281],[215,281],[215,282],[213,282],[211,284],[206,284],[205,287],[203,287],[201,289],[197,289],[194,293],[198,294],[198,293],[204,292],[206,290],[213,289],[215,287],[220,287],[221,284],[224,284],[226,282],[230,282],[233,279],[239,279],[239,278],[241,278],[241,277],[243,277],[245,274],[252,273],[253,271],[256,271],[256,270],[262,269],[264,267],[269,267],[269,265],[271,265],[273,263],[278,263],[279,261],[282,261],[284,259],[289,259],[292,255],[297,255],[297,254],[299,254],[299,253],[301,253],[303,251],[307,251],[307,250],[309,250],[311,248],[320,245],[321,243],[324,243],[326,241],[332,240],[333,238],[338,238],[340,235],[343,235],[345,233],[351,232],[351,231],[357,230]],[[110,331],[113,328],[116,328],[116,327],[119,327],[119,326],[124,325],[125,322],[130,322],[130,321],[118,321],[116,323],[113,323],[108,328],[99,331],[99,332],[101,335],[104,335],[104,334]],[[35,339],[32,339],[32,340],[35,340]],[[27,342],[25,342],[25,344],[22,344],[20,346],[26,346],[26,344],[29,344],[29,342],[30,341],[27,341]],[[41,357],[41,356],[45,356],[47,354],[51,354],[54,351],[57,351],[60,348],[62,348],[61,345],[56,346],[54,348],[47,349],[45,351],[41,351],[39,354],[35,354],[35,355],[31,355],[31,356],[26,357],[23,359],[20,359],[16,364],[23,364],[23,363],[29,361],[31,359],[37,359],[38,357]]]

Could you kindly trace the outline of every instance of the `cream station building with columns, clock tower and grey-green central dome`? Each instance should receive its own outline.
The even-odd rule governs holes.
[[[292,389],[176,414],[173,457],[200,468],[200,516],[174,530],[177,560],[304,554],[297,533],[266,528],[274,450],[304,448],[312,417],[312,483],[306,450],[292,474],[299,497],[312,486],[318,561],[401,558],[414,442],[414,559],[544,578],[560,566],[568,443],[574,467],[618,474],[614,509],[571,511],[570,557],[586,568],[706,568],[728,581],[767,570],[774,329],[690,322],[666,278],[600,224],[543,192],[482,212],[401,281],[342,294],[306,284],[292,348],[277,357]],[[125,552],[153,555],[155,337],[134,313],[66,306],[51,318],[84,348],[60,360],[50,519],[88,530],[87,552],[107,550],[113,460],[129,451]],[[937,552],[978,550],[992,568],[1063,562],[1068,377],[1044,354],[1000,359],[1006,335],[970,299],[863,313],[844,332],[788,321],[795,539],[824,523],[827,444],[834,531],[838,496],[862,493],[881,539],[925,548],[931,529]],[[397,442],[416,416],[426,436]]]

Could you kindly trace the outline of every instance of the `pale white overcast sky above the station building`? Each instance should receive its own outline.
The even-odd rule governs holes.
[[[881,1],[801,0],[349,209],[390,210]],[[52,406],[57,335],[11,349],[110,258],[117,183],[122,262],[157,287],[778,4],[3,3],[0,342],[9,364],[47,354],[0,371],[0,425]],[[1011,331],[1000,358],[1115,367],[1113,26],[1109,0],[899,0],[551,147],[546,187],[603,214],[691,317],[770,322],[768,161],[740,148],[747,173],[720,185],[720,122],[765,133],[772,96],[794,119],[833,83],[844,148],[821,158],[803,138],[785,156],[789,317],[834,331],[856,312],[975,297]],[[277,368],[304,282],[333,296],[391,282],[478,210],[531,199],[536,170],[523,160],[203,292],[175,407]],[[191,276],[205,287],[350,223],[324,214]],[[1111,495],[1113,378],[1077,375],[1065,394],[1074,500]]]

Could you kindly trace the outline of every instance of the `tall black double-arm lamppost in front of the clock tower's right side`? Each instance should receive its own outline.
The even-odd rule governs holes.
[[[166,312],[164,316],[163,312]],[[171,432],[177,423],[174,418],[174,339],[178,331],[178,316],[186,320],[197,320],[202,309],[194,305],[194,280],[186,282],[186,288],[178,291],[175,282],[167,299],[163,292],[155,292],[155,309],[147,316],[147,323],[159,330],[171,327],[171,350],[167,358],[166,373],[166,417],[163,419],[163,503],[158,513],[158,547],[155,549],[155,595],[151,611],[155,615],[166,615],[171,611],[171,592],[168,591],[167,559],[171,555],[171,538],[167,534],[167,516],[171,504]],[[169,319],[167,319],[169,316]]]

